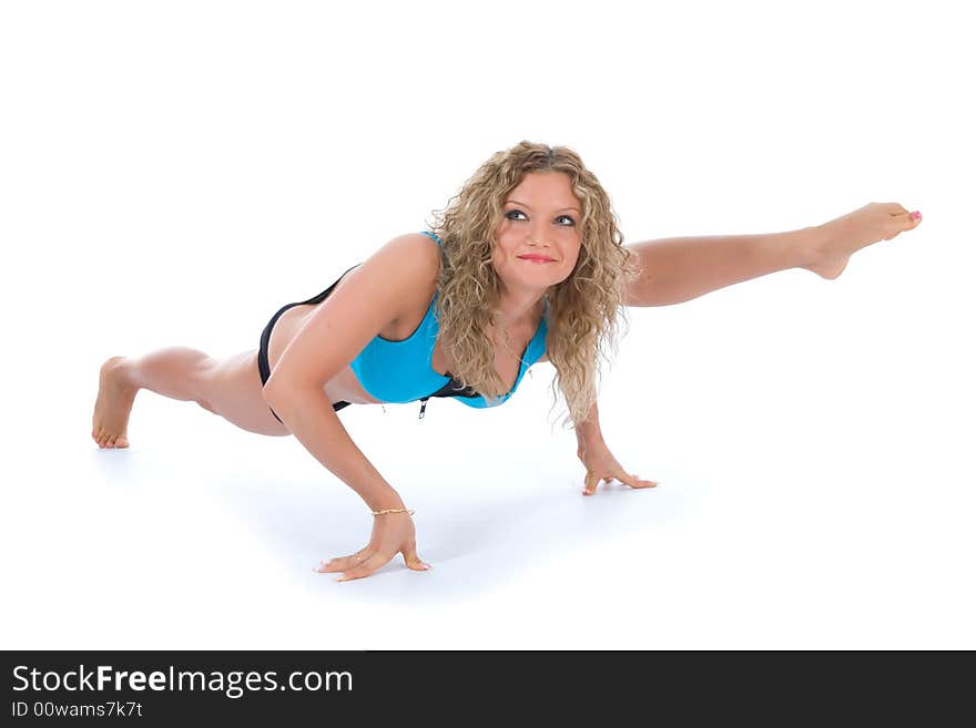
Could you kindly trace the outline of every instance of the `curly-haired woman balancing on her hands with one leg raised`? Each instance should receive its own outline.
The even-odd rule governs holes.
[[[170,348],[102,366],[92,438],[126,448],[136,392],[192,400],[245,430],[294,434],[374,515],[369,543],[317,571],[368,576],[397,553],[414,570],[411,511],[349,438],[349,403],[454,397],[504,402],[526,370],[551,361],[587,469],[632,488],[603,442],[596,375],[622,306],[677,304],[774,270],[836,278],[855,250],[917,226],[921,215],[872,203],[785,234],[687,237],[623,246],[610,199],[567,147],[521,142],[468,180],[433,233],[394,238],[318,296],[283,307],[257,350],[224,360]]]

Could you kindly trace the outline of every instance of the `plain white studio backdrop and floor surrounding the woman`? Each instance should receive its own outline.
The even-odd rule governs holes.
[[[4,648],[974,648],[972,69],[958,3],[0,9]],[[255,349],[494,152],[566,144],[627,243],[868,202],[836,280],[630,309],[600,392],[655,490],[581,494],[548,363],[497,410],[349,407],[419,554],[336,584],[359,498],[292,438],[98,370]]]

